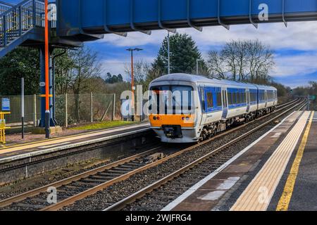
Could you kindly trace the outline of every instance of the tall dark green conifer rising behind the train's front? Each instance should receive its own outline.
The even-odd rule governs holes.
[[[188,34],[173,34],[170,36],[170,72],[196,73],[196,63],[199,61],[199,73],[206,74],[206,63],[201,57],[194,40]],[[163,40],[159,55],[152,67],[163,74],[168,69],[168,37]]]

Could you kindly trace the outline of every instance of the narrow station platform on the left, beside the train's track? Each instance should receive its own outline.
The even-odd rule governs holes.
[[[99,131],[90,131],[82,134],[57,137],[42,141],[22,143],[15,146],[4,146],[0,148],[0,164],[23,158],[30,158],[37,155],[54,153],[59,150],[77,148],[111,139],[118,139],[150,130],[149,123],[142,123]]]

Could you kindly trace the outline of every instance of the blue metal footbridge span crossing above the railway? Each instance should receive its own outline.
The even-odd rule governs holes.
[[[58,34],[144,32],[205,26],[285,23],[317,20],[316,0],[57,0]],[[106,5],[105,5],[106,2]],[[78,10],[79,3],[82,10]],[[268,20],[259,6],[266,4]],[[105,7],[106,6],[106,7]],[[80,12],[80,14],[79,14]],[[79,18],[80,17],[80,18]],[[80,21],[80,23],[79,23]],[[106,21],[106,23],[105,23]]]

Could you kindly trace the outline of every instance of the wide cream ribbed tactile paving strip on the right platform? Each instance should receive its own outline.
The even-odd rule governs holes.
[[[276,148],[274,153],[256,174],[249,186],[230,209],[231,211],[264,211],[275,192],[278,183],[285,172],[287,163],[306,126],[310,112],[305,112],[299,118],[289,134]]]

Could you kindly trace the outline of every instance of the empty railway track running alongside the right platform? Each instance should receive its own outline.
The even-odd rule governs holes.
[[[303,103],[299,110],[302,110],[305,105],[306,103]],[[294,107],[296,107],[296,105]],[[107,207],[104,211],[163,209],[163,207],[168,205],[168,203],[172,202],[180,195],[179,191],[184,193],[189,187],[197,184],[198,181],[204,179],[204,177],[211,174],[211,172],[214,172],[221,165],[223,165],[225,162],[228,162],[228,160],[239,153],[240,149],[236,148],[238,143],[246,139],[248,136],[251,136],[256,131],[259,131],[259,129],[271,124],[275,120],[278,120],[279,117],[285,115],[285,113],[292,110],[292,108],[280,113],[280,115],[276,117],[273,117],[271,120],[261,124],[261,126],[251,129],[245,134],[242,134],[242,136],[225,143],[220,148],[217,148],[216,150],[211,151],[201,158],[194,160],[194,162],[189,163],[185,167],[168,174],[168,176],[163,177],[163,179],[156,181],[142,190],[133,193],[127,198],[120,200],[118,203]],[[234,146],[235,148],[232,148]],[[138,203],[135,203],[136,201],[138,201]],[[132,203],[135,204],[131,205]]]

